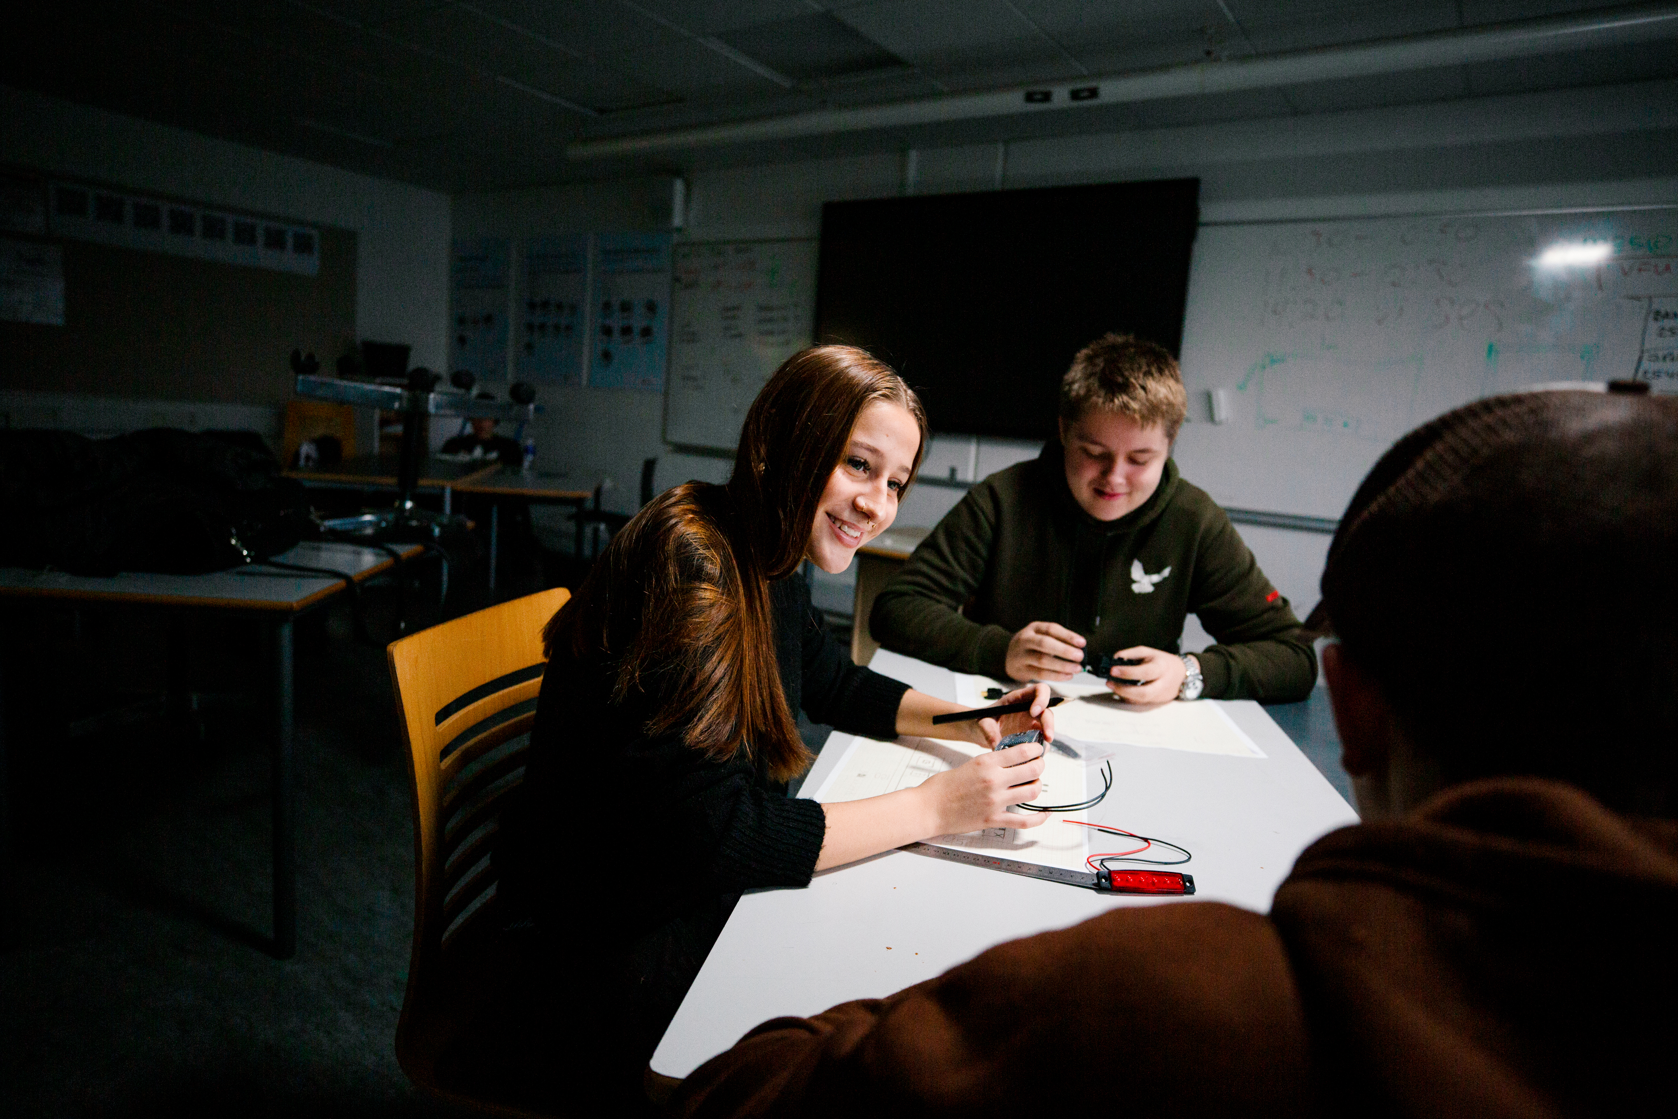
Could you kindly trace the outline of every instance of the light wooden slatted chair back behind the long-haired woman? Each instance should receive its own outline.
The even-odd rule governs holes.
[[[436,1065],[461,1037],[493,966],[472,951],[497,926],[490,856],[507,794],[524,780],[542,627],[569,597],[564,587],[542,591],[388,649],[414,794],[414,939],[396,1059],[414,1084],[480,1107],[487,1101],[441,1084]]]

